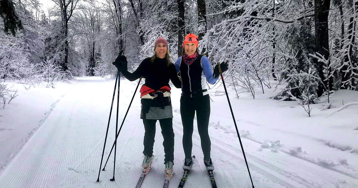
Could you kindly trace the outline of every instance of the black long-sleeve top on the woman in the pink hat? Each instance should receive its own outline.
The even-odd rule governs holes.
[[[163,86],[169,86],[169,79],[176,88],[182,87],[182,82],[176,74],[173,63],[167,66],[165,58],[157,58],[154,63],[151,63],[150,60],[151,58],[145,58],[133,73],[130,73],[127,70],[122,71],[121,73],[129,81],[135,81],[142,76],[145,78],[144,85],[153,90],[159,90]]]

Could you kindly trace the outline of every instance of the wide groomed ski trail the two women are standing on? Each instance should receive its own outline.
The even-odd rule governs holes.
[[[109,179],[113,174],[113,155],[101,171],[100,182],[96,183],[100,159],[105,139],[108,115],[114,80],[98,81],[91,78],[78,79],[76,87],[70,90],[53,109],[47,120],[32,136],[19,154],[0,174],[1,188],[131,188],[135,187],[141,174],[143,159],[144,128],[139,119],[139,93],[132,103],[125,124],[117,140],[117,156],[114,182]],[[136,82],[121,80],[120,126],[129,105]],[[129,92],[130,91],[130,92]],[[175,90],[174,92],[179,92]],[[177,94],[175,94],[178,96]],[[173,96],[174,99],[174,96]],[[172,100],[173,100],[172,99]],[[174,100],[179,100],[175,98]],[[116,108],[116,100],[113,109]],[[175,134],[174,175],[169,187],[176,188],[182,177],[184,152],[182,146],[182,124],[180,114],[175,113],[173,129]],[[115,114],[113,110],[103,165],[115,138]],[[119,128],[119,127],[118,127]],[[251,187],[240,145],[219,140],[220,135],[211,135],[214,175],[218,187]],[[141,188],[162,187],[164,183],[164,148],[159,122],[156,126],[154,161]],[[244,149],[255,187],[260,188],[319,188],[334,187],[346,175],[319,167],[285,153],[277,158],[267,158],[255,151],[260,144],[243,139]],[[185,182],[185,188],[211,187],[210,179],[203,164],[203,154],[194,121],[193,152],[197,159]],[[103,168],[102,165],[102,168]],[[291,168],[291,170],[285,170]],[[301,177],[310,176],[310,179]],[[348,177],[352,178],[352,177]],[[321,182],[315,179],[326,181]],[[357,187],[358,180],[346,188]]]

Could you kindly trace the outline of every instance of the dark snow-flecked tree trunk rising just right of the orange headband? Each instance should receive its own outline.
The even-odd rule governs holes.
[[[198,4],[198,39],[202,40],[206,34],[206,6],[205,0],[197,0]],[[202,52],[208,56],[208,52],[205,48],[202,49]]]

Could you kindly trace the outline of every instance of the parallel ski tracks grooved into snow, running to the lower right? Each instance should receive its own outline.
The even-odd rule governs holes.
[[[180,130],[182,130],[182,127],[179,126],[180,124],[181,124],[181,122],[173,120],[173,125],[175,127],[179,128]],[[196,121],[194,121],[193,138],[195,138],[195,139],[200,141],[200,137],[198,135],[198,131],[197,131],[197,127],[196,127]],[[255,140],[251,140],[251,141],[259,143],[259,142],[255,141]],[[212,148],[218,149],[218,150],[220,150],[220,151],[222,151],[222,152],[224,152],[224,153],[226,153],[228,155],[232,155],[232,156],[235,156],[237,158],[240,158],[242,160],[242,163],[245,163],[245,160],[244,160],[243,155],[242,155],[241,148],[237,148],[236,146],[233,146],[233,144],[229,145],[229,144],[227,144],[227,143],[215,138],[215,136],[212,135],[212,134],[211,134],[211,144],[212,144]],[[237,144],[240,147],[240,143],[239,143],[238,139],[237,139]],[[245,143],[243,143],[243,144],[244,144],[244,149],[245,149]],[[250,146],[251,146],[251,144],[250,144]],[[251,147],[251,148],[258,148],[258,147],[260,147],[260,145],[257,145],[257,147]],[[247,151],[250,151],[248,149],[249,148],[246,149],[245,154],[246,154],[247,162],[249,163],[249,168],[255,170],[257,173],[265,175],[266,177],[274,178],[274,179],[276,179],[276,181],[280,182],[280,184],[284,185],[285,187],[295,187],[295,186],[298,186],[298,187],[304,186],[304,187],[309,187],[309,188],[319,188],[320,187],[320,185],[316,184],[316,182],[314,180],[312,182],[309,182],[307,179],[304,179],[304,178],[298,176],[295,173],[287,172],[286,170],[283,170],[283,169],[281,169],[281,168],[279,168],[279,167],[277,167],[277,166],[275,166],[275,165],[273,165],[271,163],[265,162],[265,160],[262,160],[262,159],[265,159],[265,158],[260,159],[260,158],[258,158],[256,156],[253,156],[252,154],[250,154],[250,152],[247,152]],[[312,168],[312,167],[310,167],[311,166],[310,164],[304,164],[304,163],[309,162],[311,164],[314,164],[314,165],[322,167],[321,165],[316,164],[316,163],[312,163],[311,161],[305,160],[304,158],[300,158],[300,157],[297,157],[297,156],[290,155],[287,152],[284,152],[284,153],[288,154],[289,156],[286,155],[286,156],[283,156],[283,158],[280,157],[280,159],[281,159],[281,161],[285,161],[287,164],[290,164],[291,168],[292,168],[292,166],[296,166],[296,168],[292,168],[292,169],[296,169],[296,170],[297,169],[304,169],[304,171],[306,171],[307,173],[310,173],[314,177],[320,177],[321,179],[326,179],[327,182],[331,182],[332,186],[335,183],[337,183],[338,180],[340,180],[337,177],[344,178],[344,176],[348,176],[349,178],[357,179],[356,177],[354,177],[351,174],[340,172],[339,170],[332,169],[332,168],[326,168],[328,170],[332,170],[332,173],[330,173],[330,174],[326,173],[326,171],[319,172],[318,170],[315,170],[317,168]],[[291,162],[292,159],[290,160],[291,157],[295,157],[295,158],[297,158],[297,160],[303,159],[304,162],[292,163]],[[242,166],[242,167],[244,167],[244,169],[242,169],[242,170],[245,173],[248,174],[246,165]],[[306,169],[304,167],[306,167]],[[325,168],[325,167],[323,167],[323,168]],[[314,172],[314,171],[318,171],[318,172]],[[276,172],[277,174],[272,173],[272,172]],[[339,173],[339,175],[336,174],[336,173]],[[251,172],[251,176],[254,177],[252,172]],[[253,178],[253,180],[255,181],[255,178]],[[299,184],[298,185],[295,184],[294,182],[292,182],[292,180],[294,180],[295,182],[297,182]],[[288,184],[289,182],[292,182],[292,184]],[[358,185],[358,181],[356,181],[356,183]],[[254,182],[254,185],[255,185],[255,182]]]

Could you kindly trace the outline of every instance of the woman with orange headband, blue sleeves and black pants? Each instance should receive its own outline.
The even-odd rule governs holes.
[[[204,153],[206,170],[214,170],[210,157],[211,142],[208,134],[210,117],[210,98],[207,91],[208,81],[214,84],[219,77],[219,67],[211,69],[209,59],[198,52],[198,37],[192,33],[184,37],[182,56],[174,63],[176,72],[182,78],[182,97],[180,98],[180,114],[183,123],[183,148],[185,160],[183,169],[190,170],[192,160],[192,135],[195,111],[197,113],[198,132]],[[228,64],[221,64],[222,72],[228,69]]]

